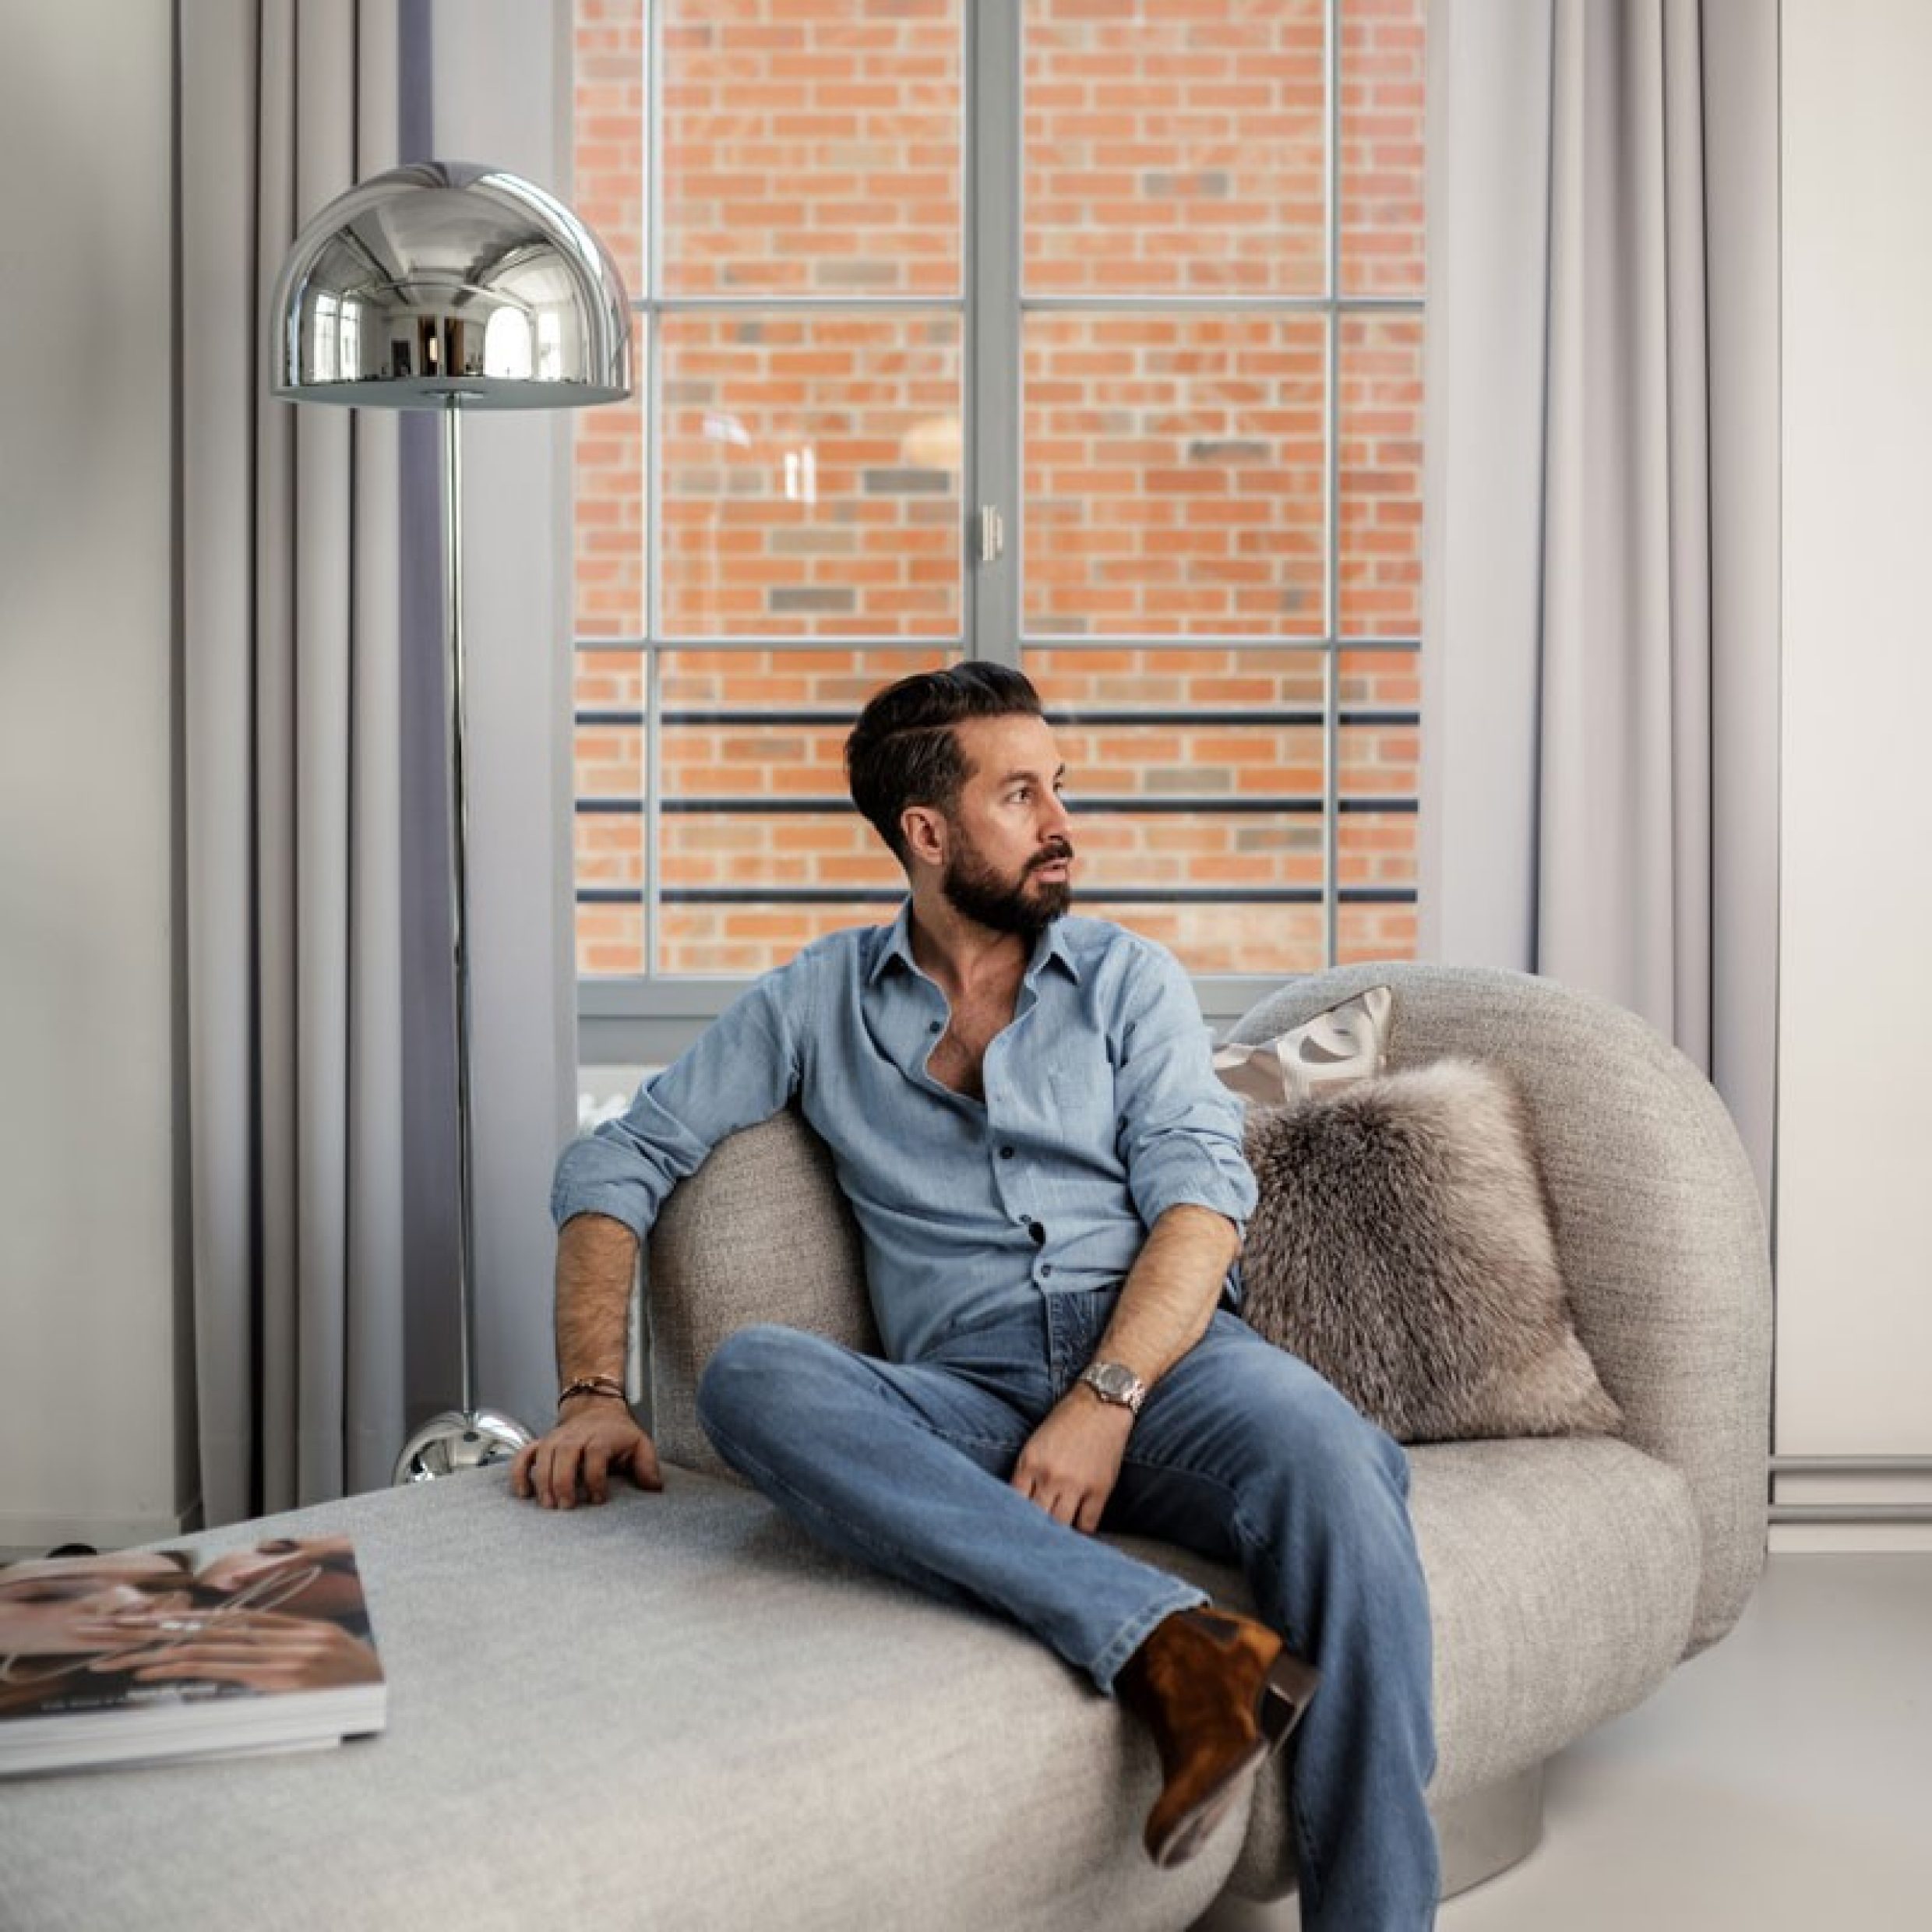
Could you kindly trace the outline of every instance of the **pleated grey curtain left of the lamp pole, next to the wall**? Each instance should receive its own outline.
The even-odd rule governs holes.
[[[396,162],[394,0],[180,10],[187,1076],[203,1515],[404,1432],[396,421],[267,398],[298,226]]]

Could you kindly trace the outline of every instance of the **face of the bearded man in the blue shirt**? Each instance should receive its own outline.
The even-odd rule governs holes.
[[[1037,939],[1072,904],[1074,848],[1045,719],[966,719],[956,726],[970,777],[947,815],[939,889],[964,918]]]

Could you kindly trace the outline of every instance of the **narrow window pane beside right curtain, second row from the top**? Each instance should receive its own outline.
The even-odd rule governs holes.
[[[1341,323],[1341,628],[1422,632],[1422,317]]]

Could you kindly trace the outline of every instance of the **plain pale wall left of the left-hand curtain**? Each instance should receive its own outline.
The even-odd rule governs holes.
[[[187,1493],[172,15],[0,0],[0,1546]]]

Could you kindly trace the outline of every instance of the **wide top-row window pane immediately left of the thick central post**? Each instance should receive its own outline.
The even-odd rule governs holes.
[[[667,0],[672,296],[960,288],[960,0]]]

